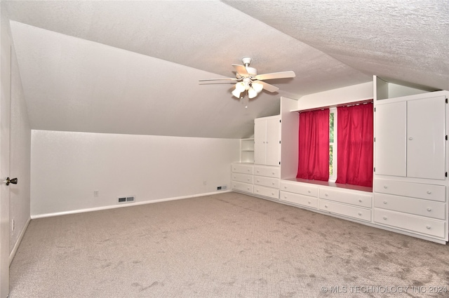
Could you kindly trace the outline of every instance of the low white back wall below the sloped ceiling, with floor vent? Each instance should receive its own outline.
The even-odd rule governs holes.
[[[31,215],[207,194],[230,187],[233,161],[236,139],[32,130]]]

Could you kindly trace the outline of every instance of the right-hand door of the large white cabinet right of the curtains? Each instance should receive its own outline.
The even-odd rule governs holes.
[[[445,97],[410,100],[407,105],[407,176],[444,180]]]

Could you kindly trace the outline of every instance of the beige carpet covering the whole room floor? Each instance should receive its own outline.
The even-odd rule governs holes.
[[[10,297],[449,297],[444,288],[449,245],[230,192],[33,219]]]

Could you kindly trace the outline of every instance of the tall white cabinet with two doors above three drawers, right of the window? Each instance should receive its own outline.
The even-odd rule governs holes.
[[[375,102],[376,224],[448,241],[448,95]]]

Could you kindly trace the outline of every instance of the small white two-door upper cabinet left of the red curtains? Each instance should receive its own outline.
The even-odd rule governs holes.
[[[254,163],[279,165],[281,152],[281,117],[254,119]]]

